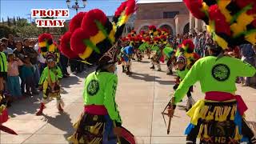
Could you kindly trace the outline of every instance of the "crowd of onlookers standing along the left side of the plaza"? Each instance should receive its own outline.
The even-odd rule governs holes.
[[[58,46],[59,44],[60,41]],[[46,67],[46,59],[40,54],[37,40],[24,38],[15,42],[14,36],[9,34],[8,38],[0,39],[0,45],[0,93],[6,97],[4,102],[10,106],[11,102],[37,95],[38,82]],[[63,78],[70,76],[68,64],[69,59],[60,54],[58,66],[62,69]],[[82,72],[82,66],[77,60],[70,61],[70,68],[74,73]],[[7,73],[4,73],[5,67]]]

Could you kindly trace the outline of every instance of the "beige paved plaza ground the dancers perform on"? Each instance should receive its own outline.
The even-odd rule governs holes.
[[[185,143],[183,134],[190,119],[186,116],[184,106],[186,98],[175,111],[170,134],[166,134],[166,126],[162,118],[162,110],[174,93],[174,76],[166,75],[166,65],[162,65],[162,72],[150,70],[150,62],[133,62],[131,76],[122,74],[118,66],[118,92],[116,95],[118,109],[122,116],[123,126],[130,130],[139,144],[178,144]],[[72,124],[77,121],[83,110],[82,91],[86,74],[71,75],[62,80],[62,98],[66,104],[64,113],[60,114],[53,100],[46,105],[43,116],[36,116],[39,107],[38,97],[26,98],[21,102],[14,102],[10,107],[10,120],[4,123],[14,129],[18,135],[1,132],[0,143],[44,143],[64,144],[74,129]],[[256,122],[256,90],[250,87],[238,86],[238,93],[246,102],[249,110],[246,119]],[[194,99],[203,98],[200,85],[194,86]],[[168,118],[166,117],[166,120]]]

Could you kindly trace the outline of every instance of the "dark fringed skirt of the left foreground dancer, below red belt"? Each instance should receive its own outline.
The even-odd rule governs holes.
[[[83,113],[74,124],[76,131],[69,138],[74,144],[114,144],[113,122],[109,115],[95,115]]]

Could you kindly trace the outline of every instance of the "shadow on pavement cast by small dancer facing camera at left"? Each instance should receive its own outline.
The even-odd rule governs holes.
[[[62,112],[56,117],[50,117],[48,115],[43,114],[47,123],[51,126],[56,127],[58,130],[65,131],[66,134],[63,136],[67,139],[74,132],[73,124],[71,122],[70,114],[66,112]]]

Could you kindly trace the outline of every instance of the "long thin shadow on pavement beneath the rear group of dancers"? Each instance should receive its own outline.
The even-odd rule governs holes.
[[[162,81],[158,80],[159,77],[151,76],[150,74],[138,74],[133,72],[129,75],[130,78],[139,79],[146,82],[158,82],[161,85],[174,85],[174,81]]]

